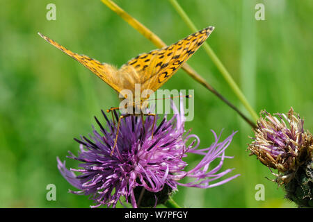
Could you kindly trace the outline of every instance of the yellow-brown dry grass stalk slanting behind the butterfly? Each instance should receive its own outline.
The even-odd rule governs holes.
[[[130,24],[133,28],[135,28],[139,33],[141,33],[141,35],[145,36],[148,40],[150,40],[155,46],[157,46],[158,48],[162,48],[166,46],[166,44],[161,40],[161,38],[159,38],[157,35],[152,33],[152,31],[150,31],[147,27],[145,27],[143,24],[138,22],[138,20],[134,19],[134,17],[131,17],[131,15],[125,12],[125,10],[122,10],[122,8],[120,8],[120,6],[118,6],[116,3],[114,3],[111,0],[102,0],[102,2],[106,6],[108,6],[111,10],[113,10],[113,12],[115,12],[120,17],[122,17],[122,19],[124,19],[128,24]],[[189,76],[191,76],[191,78],[198,81],[198,83],[200,83],[201,85],[209,89],[209,91],[214,93],[216,96],[218,96],[219,99],[221,99],[224,103],[229,105],[230,108],[235,110],[250,126],[252,126],[252,128],[255,128],[255,123],[253,123],[253,121],[248,119],[248,117],[246,117],[238,108],[236,108],[236,106],[230,103],[230,101],[227,101],[227,99],[225,99],[220,93],[218,93],[216,89],[211,87],[211,85],[209,85],[209,83],[207,83],[207,81],[204,80],[204,78],[202,78],[202,76],[200,76],[188,64],[185,63],[182,66],[182,69],[184,69],[184,71],[186,71],[186,73]]]

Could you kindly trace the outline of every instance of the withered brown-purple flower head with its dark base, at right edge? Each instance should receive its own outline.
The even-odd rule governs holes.
[[[298,199],[300,206],[304,205],[303,200],[305,205],[313,204],[313,139],[309,130],[304,130],[304,120],[293,108],[287,114],[271,115],[263,110],[260,115],[254,140],[248,146],[250,155],[256,155],[264,165],[278,170],[278,174],[273,173],[277,177],[275,182],[289,190],[287,198]],[[299,178],[303,177],[306,179],[300,182]],[[298,187],[301,194],[296,194]]]

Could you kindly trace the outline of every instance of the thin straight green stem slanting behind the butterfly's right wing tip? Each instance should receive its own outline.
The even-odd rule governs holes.
[[[170,3],[172,3],[172,6],[175,8],[175,10],[177,10],[178,14],[182,17],[184,22],[186,22],[187,26],[191,29],[191,31],[193,31],[193,32],[198,31],[198,28],[195,27],[195,24],[193,24],[191,19],[189,19],[186,12],[182,9],[181,6],[179,6],[179,3],[176,0],[168,0],[168,1],[170,1]],[[257,113],[255,112],[255,110],[253,110],[250,103],[247,101],[246,97],[243,95],[243,93],[241,92],[238,85],[235,83],[232,76],[230,76],[230,73],[227,71],[227,69],[225,68],[223,63],[220,62],[219,58],[216,56],[216,53],[214,53],[213,49],[211,49],[211,47],[209,46],[209,44],[207,44],[207,42],[204,42],[203,46],[204,46],[204,50],[207,52],[208,56],[211,58],[211,60],[214,62],[214,64],[216,65],[216,67],[220,71],[220,74],[222,74],[222,76],[225,78],[226,82],[228,83],[228,85],[230,85],[232,91],[238,97],[238,99],[241,101],[241,103],[246,108],[246,110],[248,110],[251,117],[253,119],[255,119],[255,121],[257,119],[259,119]]]

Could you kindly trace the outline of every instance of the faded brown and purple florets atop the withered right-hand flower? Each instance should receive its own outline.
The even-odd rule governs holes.
[[[275,115],[261,112],[254,141],[248,146],[250,155],[256,155],[263,164],[281,173],[296,171],[311,159],[312,135],[308,130],[305,132],[303,119],[292,108],[287,115]]]

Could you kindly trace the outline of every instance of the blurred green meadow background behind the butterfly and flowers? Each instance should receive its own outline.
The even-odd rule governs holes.
[[[192,33],[171,4],[116,1],[167,44]],[[48,21],[48,3],[56,21]],[[230,71],[256,112],[288,112],[291,106],[312,130],[312,1],[179,1],[198,28],[215,26],[207,42]],[[255,4],[264,3],[265,20],[255,20]],[[38,31],[74,52],[120,67],[155,48],[101,1],[1,1],[0,8],[0,207],[89,207],[86,196],[58,172],[56,156],[77,153],[73,137],[88,135],[100,109],[118,104],[113,89],[88,69],[42,40]],[[241,110],[236,96],[203,49],[188,61],[218,92]],[[241,176],[211,189],[179,187],[174,199],[184,207],[295,207],[256,157],[248,156],[252,130],[238,114],[179,70],[162,88],[195,89],[195,118],[186,123],[200,147],[239,130],[227,149],[234,159],[223,169]],[[248,113],[245,112],[247,115]],[[191,167],[199,159],[186,158]],[[67,167],[77,162],[67,161]],[[56,201],[46,200],[46,186],[56,185]],[[255,185],[265,200],[255,200]]]

